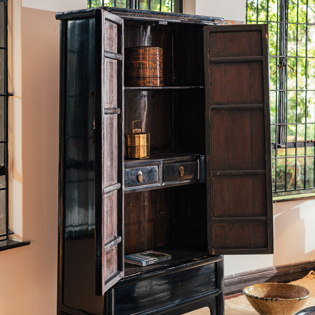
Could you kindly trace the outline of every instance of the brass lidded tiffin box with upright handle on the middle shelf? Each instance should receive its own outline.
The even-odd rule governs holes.
[[[139,121],[141,128],[134,128],[134,123]],[[134,120],[131,129],[131,134],[125,134],[125,157],[139,159],[149,157],[150,134],[142,132],[142,120]]]

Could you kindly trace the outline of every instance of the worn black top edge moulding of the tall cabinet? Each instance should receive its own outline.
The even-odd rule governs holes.
[[[94,8],[94,9],[83,9],[83,10],[76,10],[76,11],[59,12],[59,13],[56,13],[55,16],[57,20],[83,18],[83,17],[95,15],[95,10],[106,10],[110,13],[113,13],[115,15],[122,17],[123,19],[157,21],[160,24],[167,24],[167,22],[171,22],[171,23],[184,22],[184,23],[216,25],[216,24],[223,24],[223,21],[224,21],[223,18],[211,17],[211,16],[135,10],[135,9],[123,9],[123,8],[113,8],[113,7],[102,7],[102,8]]]

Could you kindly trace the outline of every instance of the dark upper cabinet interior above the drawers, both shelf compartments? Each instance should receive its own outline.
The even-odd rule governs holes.
[[[203,28],[181,27],[184,29],[178,31],[174,23],[125,22],[125,48],[144,45],[163,48],[164,87],[125,87],[125,132],[131,132],[133,120],[142,120],[144,132],[150,134],[150,154],[172,151],[204,154],[204,70],[200,48]]]

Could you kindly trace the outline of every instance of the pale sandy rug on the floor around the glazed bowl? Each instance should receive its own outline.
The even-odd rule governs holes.
[[[309,289],[313,294],[308,298],[305,306],[315,305],[315,272],[310,271],[304,278],[292,281],[291,284],[298,284]],[[183,315],[209,315],[208,307],[203,307],[199,310],[185,313]],[[257,315],[258,313],[249,304],[244,295],[240,295],[231,299],[225,300],[225,315]]]

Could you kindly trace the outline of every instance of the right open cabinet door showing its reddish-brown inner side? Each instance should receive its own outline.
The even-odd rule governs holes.
[[[209,253],[273,251],[267,25],[205,26]]]

